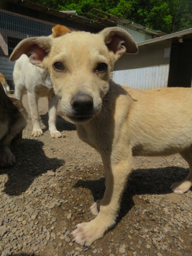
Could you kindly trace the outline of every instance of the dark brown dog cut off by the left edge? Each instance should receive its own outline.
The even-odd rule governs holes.
[[[0,167],[14,165],[11,148],[20,143],[26,120],[27,112],[22,103],[9,98],[0,84]]]

